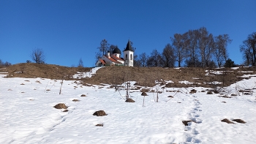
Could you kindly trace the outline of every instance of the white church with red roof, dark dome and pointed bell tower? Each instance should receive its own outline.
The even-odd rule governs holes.
[[[108,51],[106,56],[102,56],[96,63],[96,67],[102,66],[128,66],[133,67],[133,53],[131,44],[128,40],[127,48],[124,49],[124,58],[121,58],[121,50],[119,48],[115,48],[113,50],[113,54],[110,55],[110,51]]]

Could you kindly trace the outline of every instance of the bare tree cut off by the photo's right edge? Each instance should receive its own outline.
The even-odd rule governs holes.
[[[252,64],[253,67],[256,65],[256,32],[249,34],[243,45],[240,46],[240,51],[243,53],[246,64]]]

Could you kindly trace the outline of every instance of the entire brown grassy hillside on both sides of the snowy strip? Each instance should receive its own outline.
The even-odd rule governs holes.
[[[14,64],[0,72],[8,72],[7,77],[42,77],[50,79],[76,80],[72,78],[77,72],[89,72],[91,68],[62,67],[53,64]],[[207,71],[207,72],[206,72]],[[216,75],[214,72],[222,72]],[[210,73],[208,73],[210,72]],[[165,87],[208,86],[211,82],[218,81],[224,86],[244,79],[242,75],[255,74],[255,67],[240,67],[239,69],[203,69],[203,68],[162,68],[162,67],[103,67],[91,78],[84,78],[83,83],[99,85],[107,83],[117,86],[124,81],[136,81],[138,86],[154,86],[158,80]],[[206,75],[208,74],[208,75]],[[166,82],[167,80],[173,83]],[[188,80],[189,84],[179,83]]]

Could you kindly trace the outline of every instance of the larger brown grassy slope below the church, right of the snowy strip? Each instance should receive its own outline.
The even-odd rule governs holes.
[[[99,69],[94,77],[83,81],[97,85],[100,83],[115,85],[130,80],[138,82],[136,83],[138,86],[154,86],[155,80],[159,80],[159,83],[166,87],[210,86],[211,82],[218,81],[224,83],[224,86],[230,86],[230,84],[242,80],[241,76],[244,74],[255,74],[255,70],[255,67],[239,69],[104,67]],[[222,75],[216,75],[212,71],[225,72]],[[164,80],[172,80],[174,83],[168,83]],[[190,84],[178,83],[184,80],[188,80]]]

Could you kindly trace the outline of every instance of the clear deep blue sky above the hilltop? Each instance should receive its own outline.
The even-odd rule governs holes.
[[[205,26],[214,36],[230,35],[229,56],[241,64],[239,45],[256,31],[255,7],[255,0],[0,0],[0,59],[23,63],[42,48],[48,64],[77,66],[82,58],[94,67],[102,39],[120,50],[130,39],[135,53],[149,55],[173,34]]]

